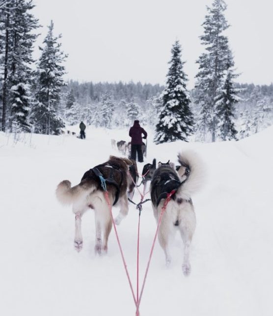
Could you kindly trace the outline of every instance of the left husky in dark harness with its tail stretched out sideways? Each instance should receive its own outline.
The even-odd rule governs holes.
[[[130,180],[130,165],[132,162],[127,158],[110,156],[107,162],[86,171],[78,185],[71,187],[71,182],[64,180],[57,186],[58,201],[62,204],[72,204],[72,211],[75,213],[74,246],[78,252],[82,250],[82,214],[88,209],[93,209],[96,223],[95,253],[99,255],[102,251],[107,253],[112,221],[100,176],[106,180],[110,204],[117,203],[120,206],[120,212],[115,218],[115,223],[118,225],[128,214],[127,187]]]

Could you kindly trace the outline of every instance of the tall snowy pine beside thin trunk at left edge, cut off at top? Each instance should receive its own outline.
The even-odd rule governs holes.
[[[28,113],[30,110],[30,66],[33,44],[37,34],[38,20],[29,13],[34,5],[32,1],[16,0],[13,20],[10,22],[11,36],[14,38],[11,50],[10,99],[11,126],[16,124],[23,131],[30,131]]]

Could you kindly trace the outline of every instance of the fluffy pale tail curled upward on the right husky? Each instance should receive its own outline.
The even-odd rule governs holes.
[[[198,192],[205,181],[205,167],[201,157],[193,150],[185,150],[178,154],[178,162],[190,169],[188,179],[183,183],[183,194],[191,197]]]

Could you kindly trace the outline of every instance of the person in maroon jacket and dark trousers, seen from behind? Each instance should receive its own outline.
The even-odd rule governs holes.
[[[139,120],[134,121],[134,125],[130,128],[129,136],[132,137],[131,140],[131,159],[136,160],[136,151],[138,162],[143,162],[143,152],[142,152],[142,134],[144,134],[144,139],[147,138],[147,132],[139,125]]]

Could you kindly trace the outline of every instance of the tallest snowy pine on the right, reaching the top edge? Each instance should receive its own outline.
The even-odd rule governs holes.
[[[196,75],[195,87],[198,89],[196,103],[201,106],[201,128],[208,129],[215,142],[217,130],[216,96],[222,85],[229,53],[228,38],[224,31],[229,27],[224,17],[226,4],[223,0],[214,0],[212,7],[207,7],[208,14],[203,23],[204,34],[200,36],[205,45],[205,53],[197,60],[199,71]]]

